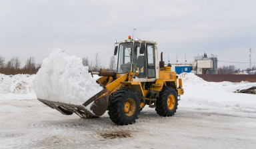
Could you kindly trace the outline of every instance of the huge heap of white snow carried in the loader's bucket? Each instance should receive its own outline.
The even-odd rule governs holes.
[[[37,98],[79,105],[103,87],[91,77],[82,59],[57,49],[43,60],[35,76],[34,89]]]

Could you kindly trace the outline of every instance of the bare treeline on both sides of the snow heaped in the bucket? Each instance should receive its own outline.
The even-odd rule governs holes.
[[[83,58],[83,65],[89,67],[89,71],[97,72],[100,69],[104,69],[101,59],[99,59],[98,53],[95,56],[94,61],[89,61],[88,57]],[[18,57],[13,57],[9,61],[5,61],[4,57],[0,56],[0,73],[5,75],[17,75],[17,74],[36,74],[41,68],[41,64],[35,63],[34,57],[29,57],[24,65],[21,67],[21,61]],[[111,57],[109,65],[105,68],[105,71],[115,71],[117,64],[115,62],[115,56]]]

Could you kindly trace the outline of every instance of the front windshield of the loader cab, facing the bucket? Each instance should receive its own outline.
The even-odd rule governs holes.
[[[119,45],[117,73],[127,73],[131,71],[132,51],[133,43],[121,43]]]

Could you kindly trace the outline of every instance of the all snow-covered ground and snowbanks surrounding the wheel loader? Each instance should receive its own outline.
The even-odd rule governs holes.
[[[256,95],[234,91],[249,82],[183,78],[185,94],[173,117],[146,107],[135,124],[65,116],[36,99],[35,76],[0,75],[0,148],[255,148]],[[18,85],[19,84],[19,85]],[[117,138],[115,138],[117,137]]]

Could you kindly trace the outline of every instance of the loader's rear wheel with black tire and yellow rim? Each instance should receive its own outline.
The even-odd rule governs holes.
[[[170,99],[169,99],[170,98]],[[175,101],[173,101],[173,98]],[[169,104],[168,100],[173,101]],[[157,98],[156,108],[157,114],[160,116],[173,116],[177,110],[178,98],[177,91],[175,88],[167,86],[159,93],[159,98]]]

